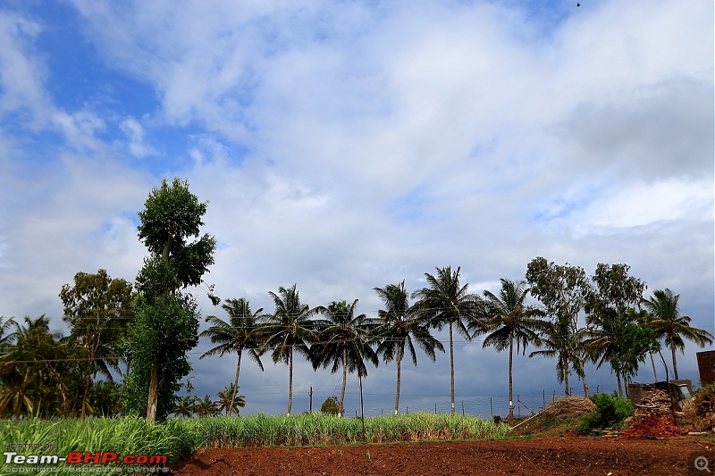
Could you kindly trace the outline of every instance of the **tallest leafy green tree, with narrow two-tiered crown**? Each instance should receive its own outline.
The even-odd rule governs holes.
[[[188,182],[176,178],[154,188],[139,212],[139,240],[149,256],[136,282],[139,298],[126,347],[132,362],[126,391],[147,392],[151,421],[171,411],[174,392],[191,369],[186,353],[198,344],[198,308],[180,288],[200,284],[214,263],[215,239],[207,234],[199,238],[206,205],[189,192]],[[139,412],[139,400],[138,395],[126,398],[128,411]]]

